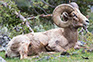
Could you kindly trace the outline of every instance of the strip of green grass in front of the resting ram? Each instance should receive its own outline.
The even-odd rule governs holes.
[[[7,62],[93,62],[93,52],[82,53],[81,50],[75,50],[74,52],[77,52],[77,54],[70,56],[60,56],[60,53],[56,53],[53,55],[42,53],[38,58],[30,57],[29,59],[22,60],[20,60],[19,58],[5,58],[5,52],[0,52],[0,56],[3,57]],[[88,57],[89,59],[83,59],[82,56]],[[47,59],[45,57],[50,58]]]

